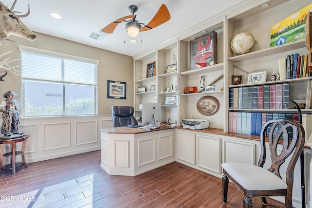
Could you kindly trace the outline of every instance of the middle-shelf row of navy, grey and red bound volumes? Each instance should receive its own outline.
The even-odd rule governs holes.
[[[229,89],[230,109],[287,109],[289,101],[289,83]]]

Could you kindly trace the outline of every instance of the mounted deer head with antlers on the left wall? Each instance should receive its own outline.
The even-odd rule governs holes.
[[[14,11],[16,2],[17,0],[13,2],[12,7],[9,9],[0,1],[0,44],[10,35],[28,40],[36,39],[35,34],[20,20],[20,18],[27,17],[30,14],[29,4],[26,14],[17,15],[15,13],[20,12]]]

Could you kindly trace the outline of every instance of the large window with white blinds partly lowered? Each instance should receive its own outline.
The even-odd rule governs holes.
[[[96,114],[97,61],[21,51],[24,117]]]

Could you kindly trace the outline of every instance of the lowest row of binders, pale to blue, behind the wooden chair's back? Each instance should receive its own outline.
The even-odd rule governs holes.
[[[306,138],[309,138],[311,134],[311,116],[311,114],[302,113],[302,125],[307,134]],[[299,122],[298,113],[229,112],[228,132],[260,136],[261,129],[266,122],[280,118]],[[270,127],[267,132],[270,132]]]

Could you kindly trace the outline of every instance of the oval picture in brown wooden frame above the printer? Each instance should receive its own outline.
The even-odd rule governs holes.
[[[197,102],[197,111],[203,115],[213,115],[219,110],[219,101],[213,96],[203,96]]]

